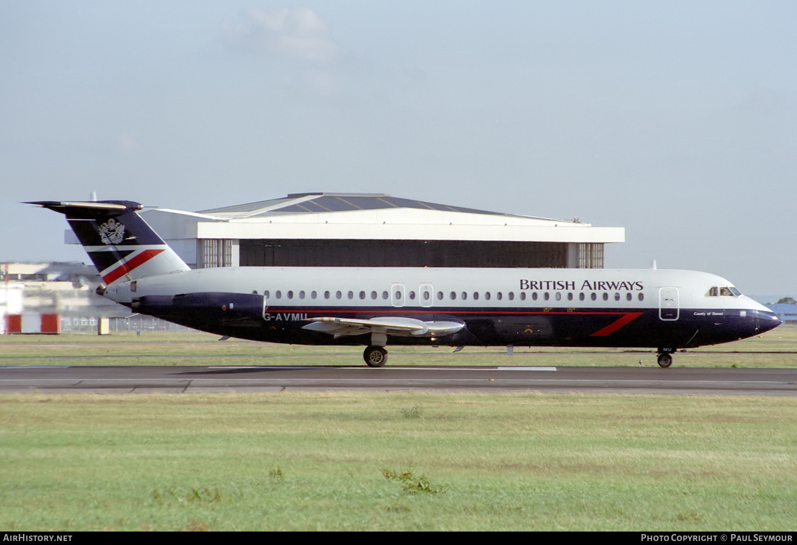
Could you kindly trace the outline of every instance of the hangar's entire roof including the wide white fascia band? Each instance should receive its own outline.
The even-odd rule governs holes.
[[[201,212],[160,208],[141,215],[173,246],[178,240],[195,246],[191,239],[198,238],[625,241],[622,227],[593,227],[577,220],[501,214],[388,194],[300,193]]]

